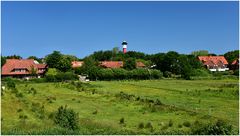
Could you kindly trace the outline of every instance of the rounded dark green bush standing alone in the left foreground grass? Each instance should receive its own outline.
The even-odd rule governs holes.
[[[78,114],[67,106],[60,106],[54,116],[54,123],[70,130],[76,130],[78,126]]]

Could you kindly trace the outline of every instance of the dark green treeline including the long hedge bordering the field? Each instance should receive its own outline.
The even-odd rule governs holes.
[[[123,54],[118,48],[106,51],[96,51],[93,54],[79,59],[73,55],[65,55],[59,51],[54,51],[44,58],[30,56],[40,63],[46,63],[49,68],[54,68],[58,71],[58,77],[54,77],[56,81],[61,80],[61,75],[68,72],[83,75],[86,74],[91,80],[116,80],[116,79],[158,79],[161,75],[164,77],[180,77],[191,79],[192,76],[206,76],[211,74],[206,70],[202,63],[197,59],[197,56],[212,55],[208,51],[194,51],[191,54],[179,54],[175,51],[157,54],[145,54],[142,52],[128,51]],[[239,58],[239,50],[230,51],[223,54],[227,61],[231,63],[236,58]],[[21,56],[2,56],[2,65],[7,58],[21,59]],[[80,68],[72,68],[71,62],[75,60],[83,60],[84,64]],[[121,69],[103,69],[99,67],[100,61],[123,61]],[[143,62],[146,65],[145,69],[136,68],[136,62]],[[157,74],[158,73],[158,74]],[[238,71],[234,72],[238,75]],[[48,76],[48,74],[46,74]],[[66,76],[68,77],[68,76]]]

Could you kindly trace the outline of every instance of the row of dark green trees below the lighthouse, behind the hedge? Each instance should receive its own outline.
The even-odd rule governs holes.
[[[28,57],[29,59],[35,59],[40,63],[48,64],[49,68],[55,68],[56,70],[65,73],[65,72],[74,72],[75,74],[87,74],[92,79],[107,79],[103,75],[97,74],[100,73],[114,73],[114,77],[116,77],[116,73],[121,71],[126,74],[128,71],[128,77],[125,79],[133,78],[130,75],[132,70],[136,69],[136,61],[143,62],[147,69],[156,69],[164,73],[164,75],[174,74],[181,75],[182,78],[190,79],[190,76],[194,74],[194,71],[198,69],[202,69],[203,66],[201,62],[197,60],[197,56],[199,55],[215,55],[209,54],[208,51],[200,50],[192,52],[190,55],[179,54],[174,51],[169,51],[167,53],[157,53],[157,54],[144,54],[142,52],[129,51],[126,54],[123,54],[119,51],[118,48],[113,48],[112,50],[107,51],[97,51],[93,54],[85,57],[84,65],[81,68],[72,69],[71,62],[75,60],[80,60],[76,56],[61,54],[59,51],[54,51],[53,53],[45,56],[45,58],[37,58],[35,56]],[[230,51],[224,54],[229,63],[231,63],[234,59],[238,58],[239,50]],[[13,56],[2,56],[2,65],[5,63],[7,58],[15,58],[21,59],[21,56],[13,55]],[[99,66],[99,61],[123,61],[123,69],[118,70],[106,70],[101,69]],[[106,72],[107,71],[107,72]],[[140,71],[140,70],[139,70]],[[201,70],[198,70],[201,71]],[[116,72],[116,73],[115,73]],[[134,72],[133,72],[134,73]],[[140,73],[140,72],[139,72]],[[149,73],[149,72],[148,72]],[[166,74],[167,73],[167,74]],[[123,74],[123,75],[124,75]],[[105,74],[107,75],[107,74]],[[121,76],[119,76],[121,77]]]

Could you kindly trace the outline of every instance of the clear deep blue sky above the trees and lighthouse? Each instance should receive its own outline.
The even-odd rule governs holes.
[[[83,58],[128,42],[148,54],[239,48],[238,2],[2,2],[2,54]]]

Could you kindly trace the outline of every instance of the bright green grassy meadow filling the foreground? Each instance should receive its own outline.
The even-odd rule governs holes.
[[[190,130],[182,125],[186,121],[193,124],[217,119],[227,121],[235,131],[239,129],[238,80],[96,81],[85,86],[85,91],[79,92],[69,83],[18,83],[22,98],[5,90],[1,99],[2,133],[65,134],[48,118],[61,105],[79,113],[80,130],[68,134],[181,134]],[[35,95],[28,93],[31,88],[36,89]],[[120,92],[134,95],[134,99],[117,97]],[[159,99],[163,105],[152,107],[137,97]],[[50,102],[48,98],[56,100]],[[45,118],[39,118],[33,103],[44,105]],[[27,119],[19,119],[20,115]],[[170,120],[172,126],[166,127]],[[153,129],[139,129],[141,122],[150,122]]]

